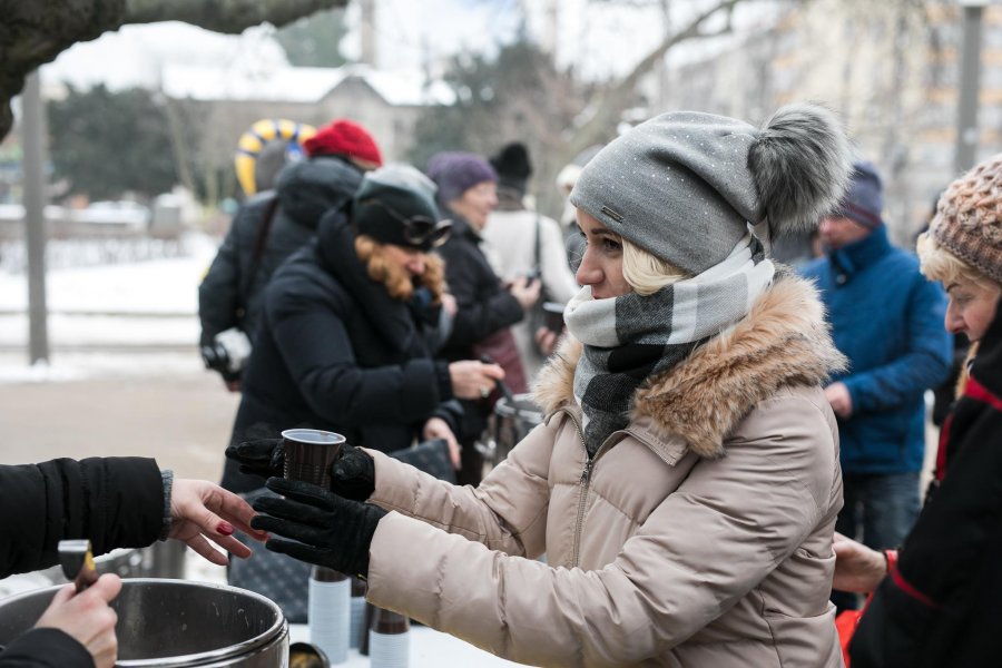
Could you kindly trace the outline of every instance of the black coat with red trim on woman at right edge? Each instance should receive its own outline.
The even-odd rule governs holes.
[[[853,668],[966,668],[1002,660],[1002,311],[946,431],[946,474],[874,593]]]

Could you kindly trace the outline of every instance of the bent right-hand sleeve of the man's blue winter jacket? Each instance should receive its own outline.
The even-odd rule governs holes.
[[[843,379],[853,413],[893,411],[946,380],[952,361],[950,334],[943,327],[946,299],[939,284],[917,276],[908,295],[907,340],[894,361]]]

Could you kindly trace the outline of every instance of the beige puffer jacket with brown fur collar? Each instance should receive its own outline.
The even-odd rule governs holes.
[[[639,390],[591,464],[579,354],[554,356],[537,393],[547,423],[478,489],[373,453],[372,501],[399,512],[373,539],[369,599],[530,665],[841,666],[842,479],[819,384],[843,360],[814,288],[778,279]]]

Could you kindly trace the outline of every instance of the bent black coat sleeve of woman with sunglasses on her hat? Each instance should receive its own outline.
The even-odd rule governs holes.
[[[287,291],[273,281],[265,308],[282,357],[311,410],[346,426],[426,419],[448,399],[432,358],[363,369],[344,324],[345,294]]]

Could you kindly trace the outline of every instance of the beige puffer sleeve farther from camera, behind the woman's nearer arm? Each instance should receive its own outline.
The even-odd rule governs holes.
[[[367,451],[376,480],[370,501],[489,549],[534,558],[546,549],[552,448],[552,428],[537,428],[477,488],[450,484]]]

